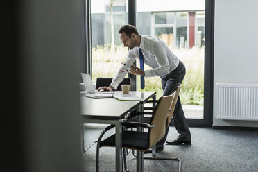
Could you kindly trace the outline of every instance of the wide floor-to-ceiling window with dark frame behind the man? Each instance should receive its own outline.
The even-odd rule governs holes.
[[[128,9],[128,2],[130,2],[130,11],[134,13],[134,10],[137,9],[137,17],[135,15],[132,15],[132,23],[135,23],[136,18],[137,18],[137,29],[139,33],[145,34],[145,35],[156,35],[160,33],[169,33],[173,34],[173,43],[170,46],[172,49],[173,53],[179,54],[180,60],[183,60],[182,55],[180,55],[180,49],[185,49],[188,51],[185,51],[184,54],[185,56],[188,57],[196,57],[198,56],[199,59],[203,58],[204,61],[204,53],[205,53],[205,95],[203,95],[203,88],[202,87],[196,87],[196,85],[191,85],[194,89],[191,89],[191,87],[187,87],[187,84],[184,84],[183,87],[185,89],[184,94],[187,94],[187,96],[182,96],[180,95],[181,99],[185,97],[184,105],[190,104],[198,104],[199,109],[198,109],[198,114],[203,114],[203,107],[201,106],[203,103],[203,96],[205,99],[205,115],[203,117],[198,116],[194,113],[191,112],[186,112],[186,117],[187,121],[191,124],[211,124],[212,121],[212,89],[213,89],[213,83],[211,78],[213,78],[213,35],[214,32],[212,31],[212,28],[214,27],[214,0],[213,1],[208,1],[208,0],[185,0],[185,1],[170,1],[170,0],[160,0],[157,4],[157,1],[154,0],[141,0],[137,1],[137,4],[131,3],[132,1],[125,1],[125,0],[114,0],[113,8],[112,8],[112,14],[113,15],[124,15],[124,18],[122,19],[123,22],[121,22],[121,25],[123,24],[128,24],[127,21],[127,9]],[[85,24],[86,24],[86,46],[87,46],[87,59],[86,59],[86,70],[92,71],[92,65],[91,65],[91,60],[89,58],[93,59],[93,66],[94,63],[96,65],[96,61],[102,64],[107,64],[110,65],[108,67],[101,67],[101,65],[94,66],[93,72],[94,72],[94,80],[96,80],[96,76],[103,76],[103,77],[113,77],[114,73],[117,71],[117,69],[114,70],[114,72],[110,73],[110,70],[115,68],[115,65],[112,66],[112,60],[110,58],[106,58],[108,56],[108,53],[110,52],[109,49],[105,49],[105,47],[110,46],[110,40],[112,37],[110,35],[106,35],[105,32],[107,31],[107,24],[105,23],[105,19],[107,19],[107,15],[111,13],[110,10],[110,1],[108,0],[94,0],[91,1],[89,5],[89,1],[86,1],[86,18],[85,18]],[[148,3],[148,6],[146,6],[146,3]],[[91,8],[91,12],[89,13],[88,8]],[[205,11],[207,10],[207,11]],[[174,13],[175,18],[173,17],[167,17],[167,13]],[[178,17],[178,12],[183,12],[183,16],[186,16],[187,18],[187,35],[185,35],[185,26],[179,26],[178,25],[178,20],[176,17]],[[162,14],[157,14],[156,17],[156,24],[155,24],[155,13],[162,13]],[[91,35],[89,35],[89,31],[87,31],[88,26],[88,17],[91,15],[91,26],[92,29]],[[170,15],[170,14],[169,14]],[[110,14],[111,16],[111,14]],[[130,15],[131,16],[131,15]],[[93,18],[92,18],[93,17]],[[121,19],[121,17],[119,18]],[[116,19],[117,20],[117,19]],[[160,21],[159,21],[160,20]],[[191,21],[191,24],[190,24]],[[207,24],[205,24],[205,21],[207,21]],[[117,22],[117,21],[116,21]],[[111,28],[111,19],[110,19],[110,28]],[[166,25],[166,26],[164,26]],[[155,28],[157,28],[157,31],[155,33]],[[160,28],[162,30],[158,31]],[[164,29],[168,28],[168,29]],[[173,28],[173,33],[171,33]],[[111,31],[111,30],[110,30]],[[206,31],[206,33],[205,33]],[[177,35],[179,33],[180,35]],[[190,38],[190,33],[192,37]],[[111,32],[110,32],[111,34]],[[114,34],[116,34],[116,31],[114,31]],[[110,36],[110,38],[108,38]],[[177,38],[178,42],[177,42]],[[87,37],[92,37],[92,40],[89,40]],[[115,37],[115,35],[114,35]],[[180,37],[184,37],[184,39],[180,40]],[[206,45],[205,45],[205,39],[207,39]],[[187,40],[187,42],[186,42]],[[90,44],[87,44],[90,42]],[[180,42],[180,43],[179,43]],[[187,44],[184,44],[185,47],[182,47],[183,44],[181,42],[186,42]],[[191,42],[191,46],[189,46]],[[171,44],[171,43],[170,43]],[[119,44],[116,42],[116,38],[114,38],[114,45],[119,46]],[[178,47],[181,45],[181,48]],[[91,47],[92,46],[92,49]],[[100,51],[94,51],[97,46],[101,46],[101,50],[103,52],[107,53],[104,55],[98,55]],[[89,51],[92,50],[92,51]],[[107,51],[105,51],[107,50]],[[193,50],[197,53],[194,53]],[[197,51],[196,51],[197,50]],[[120,51],[115,51],[121,52],[120,57],[124,56],[126,58],[126,54],[128,52],[127,49],[123,50],[120,49]],[[199,52],[198,52],[199,51]],[[205,52],[204,52],[205,51]],[[95,62],[94,62],[94,57],[97,57]],[[114,56],[114,55],[112,55]],[[104,59],[104,60],[102,60]],[[122,58],[121,58],[122,59]],[[117,60],[121,62],[121,59]],[[102,60],[102,61],[101,61]],[[103,62],[104,61],[104,62]],[[107,63],[105,63],[107,62]],[[111,63],[110,63],[111,62]],[[113,64],[117,64],[117,62],[113,62]],[[119,63],[118,63],[119,64]],[[201,63],[199,63],[201,64]],[[195,58],[191,58],[191,62],[187,64],[187,62],[184,62],[184,65],[186,66],[191,66],[193,70],[190,68],[187,69],[187,71],[200,71],[203,72],[203,67],[196,63]],[[194,69],[197,67],[196,69]],[[117,67],[118,68],[118,67]],[[101,69],[102,71],[100,72],[101,75],[95,75],[95,71],[98,72],[98,69]],[[145,67],[146,69],[146,67]],[[191,72],[190,72],[191,73]],[[187,77],[187,76],[186,76]],[[184,78],[183,83],[187,82],[193,82],[191,80],[187,80],[186,77]],[[192,80],[195,80],[193,77]],[[203,76],[200,75],[200,77],[197,77],[198,80],[196,83],[201,83],[200,85],[203,84]],[[149,79],[149,78],[148,78]],[[187,81],[186,81],[187,80]],[[151,78],[151,80],[147,80],[150,84],[152,83],[157,83],[160,82],[159,77],[154,77]],[[139,87],[139,86],[138,86]],[[191,89],[191,90],[190,90]],[[146,91],[156,91],[157,92],[157,98],[159,94],[162,92],[162,89],[159,85],[150,85],[150,87],[145,88]],[[190,90],[190,91],[187,91]],[[197,90],[197,92],[196,92]],[[183,92],[183,90],[182,90]],[[182,94],[181,92],[181,94]],[[193,98],[192,95],[195,95]],[[190,98],[190,99],[189,99]],[[197,101],[196,101],[197,100]]]

